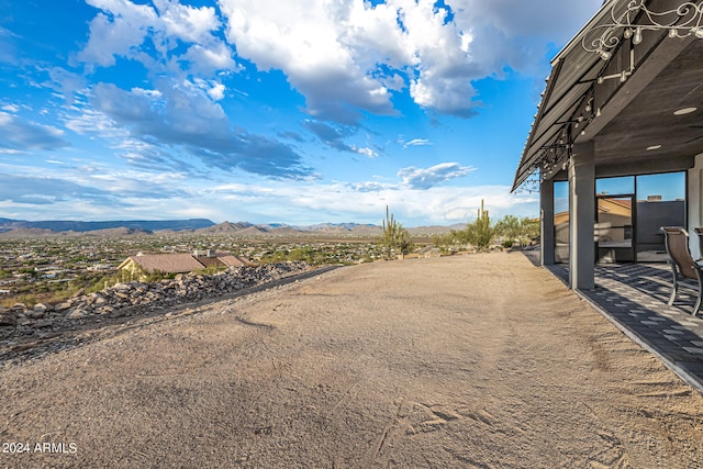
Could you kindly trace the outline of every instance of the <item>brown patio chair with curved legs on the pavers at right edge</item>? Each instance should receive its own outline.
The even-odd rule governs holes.
[[[671,292],[668,304],[673,304],[682,279],[689,278],[698,281],[699,290],[695,306],[693,306],[693,315],[695,316],[701,309],[701,297],[703,295],[703,288],[701,288],[703,284],[703,265],[698,264],[693,260],[693,257],[691,257],[689,233],[687,233],[685,230],[678,226],[663,226],[661,231],[665,235],[665,244],[673,275],[673,291]]]

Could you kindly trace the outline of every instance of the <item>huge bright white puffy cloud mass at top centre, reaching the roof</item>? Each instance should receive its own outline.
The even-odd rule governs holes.
[[[391,112],[388,90],[404,87],[421,107],[470,116],[472,80],[540,62],[545,51],[531,51],[529,36],[562,40],[599,7],[596,0],[219,1],[239,55],[263,70],[283,70],[312,115],[342,123],[358,118],[354,108]]]

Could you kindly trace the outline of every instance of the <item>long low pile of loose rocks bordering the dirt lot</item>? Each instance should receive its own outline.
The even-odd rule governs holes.
[[[38,303],[29,309],[16,303],[0,306],[0,339],[32,336],[53,337],[89,322],[105,317],[134,316],[234,293],[244,288],[270,282],[310,269],[306,263],[278,263],[256,267],[236,267],[215,275],[179,275],[158,283],[118,283],[97,293],[74,297],[57,304]]]

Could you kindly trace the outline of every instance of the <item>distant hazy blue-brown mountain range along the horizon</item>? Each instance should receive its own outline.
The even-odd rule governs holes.
[[[460,230],[465,225],[419,226],[408,228],[411,235],[423,236]],[[0,217],[0,237],[32,236],[129,236],[154,233],[226,234],[236,236],[303,236],[303,235],[357,235],[376,236],[382,233],[378,225],[359,223],[320,223],[308,226],[290,226],[283,223],[253,224],[249,222],[223,222],[215,224],[207,219],[163,221],[26,221]]]

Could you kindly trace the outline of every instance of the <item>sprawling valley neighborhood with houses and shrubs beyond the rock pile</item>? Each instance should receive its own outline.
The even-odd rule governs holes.
[[[429,238],[425,239],[429,243]],[[0,239],[0,302],[33,303],[54,294],[100,289],[119,272],[224,270],[281,260],[358,264],[382,258],[373,237],[246,238],[179,233],[115,237],[25,237]]]

